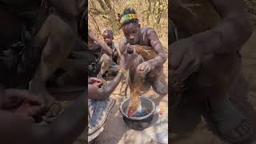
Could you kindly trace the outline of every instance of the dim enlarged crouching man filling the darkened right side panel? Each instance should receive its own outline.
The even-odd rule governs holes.
[[[242,0],[198,0],[198,5],[189,6],[189,2],[170,1],[180,40],[169,46],[169,78],[185,84],[190,94],[205,96],[220,134],[231,142],[243,142],[253,128],[234,108],[229,92],[241,74],[239,51],[252,33],[245,4]],[[202,9],[207,12],[200,13]]]

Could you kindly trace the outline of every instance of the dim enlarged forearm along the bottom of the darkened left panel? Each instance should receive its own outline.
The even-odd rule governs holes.
[[[86,127],[85,108],[85,96],[82,95],[47,126],[28,122],[21,116],[0,110],[0,143],[72,144]]]

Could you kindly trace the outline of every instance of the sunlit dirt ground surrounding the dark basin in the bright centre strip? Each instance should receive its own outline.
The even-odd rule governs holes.
[[[165,72],[167,72],[167,65],[165,64]],[[167,80],[167,78],[166,78]],[[112,113],[110,114],[104,131],[101,135],[96,138],[95,143],[97,144],[144,144],[144,143],[156,143],[161,142],[167,143],[168,141],[168,95],[159,96],[155,94],[152,89],[143,95],[152,98],[157,110],[163,109],[164,114],[159,115],[153,126],[150,126],[146,130],[136,131],[131,130],[126,126],[122,119],[122,114],[119,112],[119,106],[123,100],[120,95],[120,85],[110,96],[116,99],[116,104]],[[129,94],[129,90],[128,90]],[[155,117],[156,118],[156,117]],[[160,122],[161,121],[161,122]]]

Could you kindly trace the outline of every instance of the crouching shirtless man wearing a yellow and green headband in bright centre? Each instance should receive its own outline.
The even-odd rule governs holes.
[[[129,17],[128,14],[133,16]],[[132,49],[136,49],[134,45],[151,46],[158,54],[157,57],[140,63],[137,66],[137,73],[150,81],[151,86],[158,94],[167,94],[167,83],[165,82],[162,67],[163,63],[166,62],[167,56],[156,32],[150,27],[141,27],[135,10],[130,8],[123,11],[120,23],[123,34],[126,37],[119,44],[120,53],[122,54],[127,49],[127,44],[130,44]],[[138,59],[142,59],[142,57],[138,57],[134,61],[140,61]]]

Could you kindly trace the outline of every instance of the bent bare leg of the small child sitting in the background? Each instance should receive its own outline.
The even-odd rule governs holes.
[[[102,54],[102,58],[100,59],[101,64],[101,70],[99,71],[97,78],[102,79],[102,75],[106,73],[106,70],[108,70],[112,64],[112,59],[110,56],[106,54]]]

